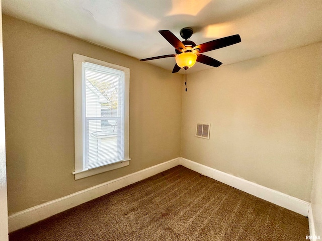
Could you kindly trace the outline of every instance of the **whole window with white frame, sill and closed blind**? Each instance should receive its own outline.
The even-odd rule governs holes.
[[[129,165],[129,69],[73,54],[75,179]]]

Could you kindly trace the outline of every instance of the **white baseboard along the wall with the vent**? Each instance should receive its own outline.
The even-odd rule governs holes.
[[[285,193],[261,186],[239,177],[235,177],[185,158],[180,158],[180,164],[207,177],[299,213],[303,216],[307,217],[308,215],[310,204],[296,197],[289,196]]]

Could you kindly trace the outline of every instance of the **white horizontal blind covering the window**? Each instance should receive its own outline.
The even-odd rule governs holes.
[[[124,72],[85,62],[84,169],[124,160]]]

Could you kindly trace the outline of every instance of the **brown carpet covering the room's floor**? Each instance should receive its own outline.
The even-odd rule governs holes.
[[[308,219],[177,166],[9,240],[305,240]]]

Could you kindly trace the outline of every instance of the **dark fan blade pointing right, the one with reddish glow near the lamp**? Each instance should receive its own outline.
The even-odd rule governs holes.
[[[199,44],[196,47],[194,47],[192,51],[195,49],[200,49],[199,53],[204,53],[207,51],[220,49],[239,42],[241,42],[240,36],[239,34],[236,34],[236,35],[231,35],[221,39],[215,39],[207,43]]]

